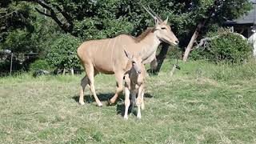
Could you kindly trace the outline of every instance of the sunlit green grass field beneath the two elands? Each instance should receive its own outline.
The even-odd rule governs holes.
[[[82,75],[0,78],[0,143],[255,143],[256,66],[181,63],[170,78],[170,62],[146,78],[146,110],[123,120],[116,106],[95,106]],[[102,102],[114,95],[113,75],[99,74]],[[136,113],[136,110],[134,110]]]

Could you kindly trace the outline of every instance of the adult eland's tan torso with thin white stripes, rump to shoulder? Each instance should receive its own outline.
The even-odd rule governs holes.
[[[114,74],[115,70],[126,68],[127,58],[123,49],[127,47],[130,51],[136,48],[134,38],[126,34],[115,38],[91,40],[78,47],[78,58],[82,64],[91,63],[98,72]]]

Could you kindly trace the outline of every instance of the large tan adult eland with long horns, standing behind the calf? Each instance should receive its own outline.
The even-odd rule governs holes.
[[[94,88],[94,76],[98,73],[114,74],[117,82],[117,90],[114,97],[110,99],[113,104],[118,98],[118,94],[122,92],[122,80],[125,74],[126,65],[129,59],[124,54],[124,50],[130,54],[142,52],[142,62],[149,63],[155,58],[156,50],[161,42],[167,42],[170,45],[178,45],[178,38],[172,32],[170,26],[167,25],[168,18],[165,21],[154,13],[153,10],[145,6],[143,8],[154,18],[154,27],[147,28],[141,35],[134,38],[127,34],[118,35],[115,38],[106,38],[83,42],[78,47],[78,58],[86,71],[86,76],[81,80],[81,90],[79,103],[84,102],[84,90],[88,85],[90,91],[94,94],[94,99],[98,106],[102,106],[102,102]]]

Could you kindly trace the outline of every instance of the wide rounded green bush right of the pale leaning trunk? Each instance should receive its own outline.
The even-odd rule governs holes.
[[[221,32],[210,34],[210,37],[218,35],[214,38],[206,49],[198,48],[191,52],[192,59],[208,59],[212,62],[230,62],[237,63],[250,57],[252,47],[246,40],[238,34]]]

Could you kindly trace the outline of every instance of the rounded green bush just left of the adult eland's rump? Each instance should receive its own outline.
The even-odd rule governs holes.
[[[46,50],[46,61],[51,66],[61,69],[79,67],[76,50],[80,44],[79,38],[70,34],[62,34],[50,45],[50,49]]]

